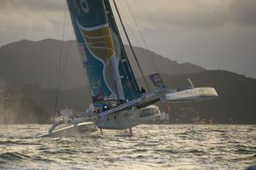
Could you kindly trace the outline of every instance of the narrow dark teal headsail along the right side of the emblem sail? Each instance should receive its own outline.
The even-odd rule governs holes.
[[[140,90],[137,86],[137,81],[131,69],[127,54],[125,53],[125,47],[119,35],[119,30],[114,20],[114,15],[109,0],[104,0],[104,3],[106,6],[108,25],[112,31],[115,54],[119,63],[119,73],[121,76],[125,99],[131,101],[133,99],[137,99],[140,96]]]

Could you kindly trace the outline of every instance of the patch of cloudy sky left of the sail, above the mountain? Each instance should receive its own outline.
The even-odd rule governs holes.
[[[2,0],[0,6],[0,44],[20,39],[61,39],[66,1]],[[73,31],[67,16],[67,35]],[[70,36],[68,36],[70,38]]]

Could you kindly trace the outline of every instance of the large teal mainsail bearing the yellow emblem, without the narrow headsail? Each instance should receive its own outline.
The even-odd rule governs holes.
[[[125,99],[103,0],[67,0],[94,103]]]

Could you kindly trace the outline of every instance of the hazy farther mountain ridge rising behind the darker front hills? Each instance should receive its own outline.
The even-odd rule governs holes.
[[[54,88],[58,63],[60,62],[61,41],[55,39],[44,39],[40,41],[21,40],[12,42],[0,48],[0,80],[12,86],[20,84],[38,83],[44,88]],[[67,51],[69,55],[67,58]],[[129,60],[136,77],[140,77],[135,59],[131,55],[131,49],[125,46]],[[148,59],[148,51],[136,48],[135,51],[145,75],[154,73],[152,63]],[[188,74],[205,71],[198,65],[189,63],[178,64],[177,61],[167,59],[159,54],[149,51],[158,65],[160,73]],[[67,66],[63,76],[63,88],[78,88],[86,85],[84,68],[79,57],[76,42],[68,40],[63,42],[62,66]]]

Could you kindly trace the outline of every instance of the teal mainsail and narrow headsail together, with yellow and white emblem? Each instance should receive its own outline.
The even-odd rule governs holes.
[[[94,103],[139,96],[108,0],[67,0]]]

